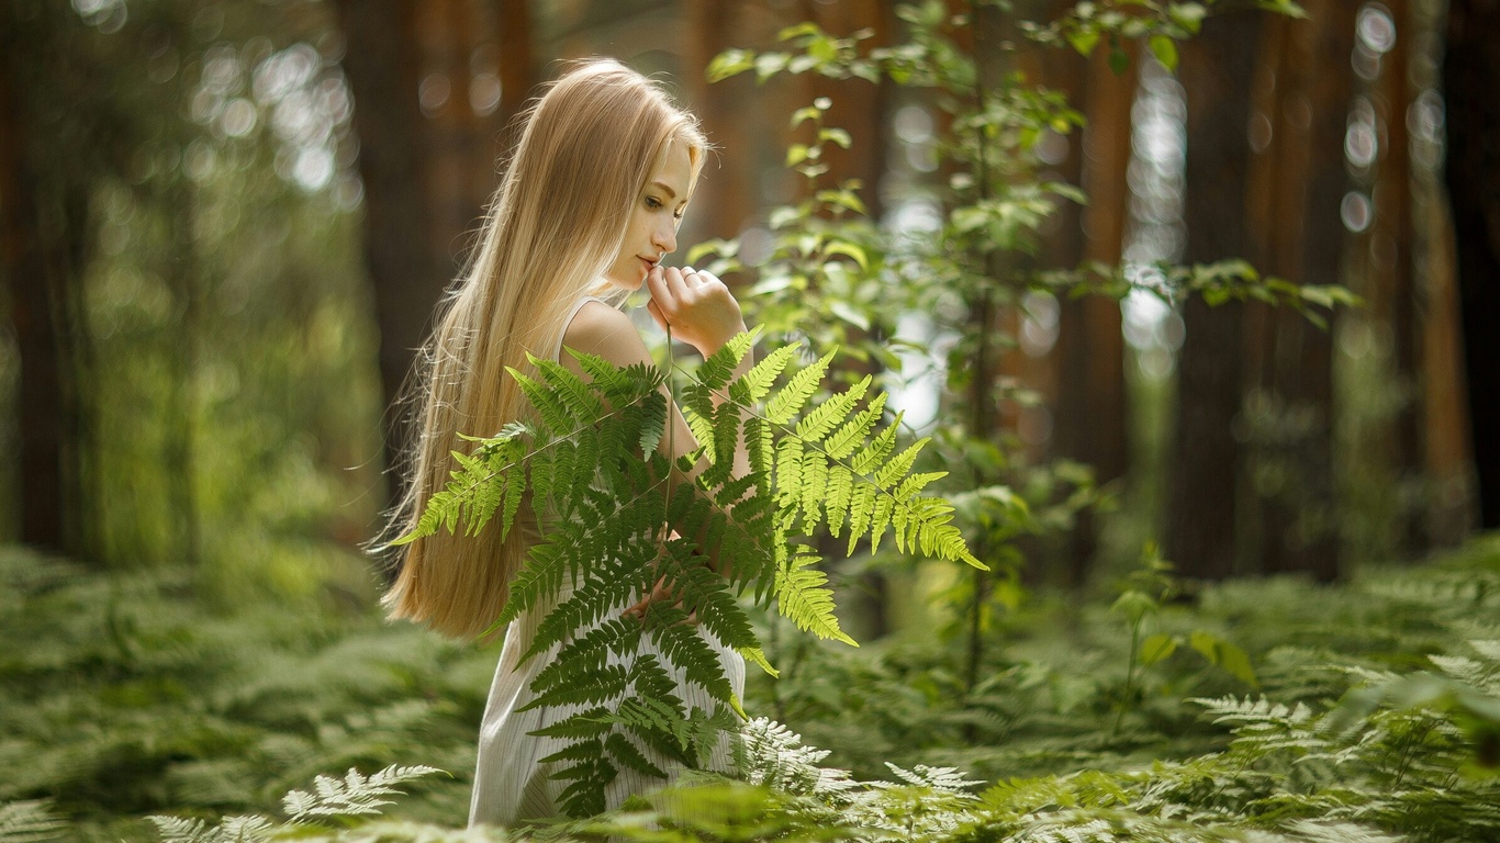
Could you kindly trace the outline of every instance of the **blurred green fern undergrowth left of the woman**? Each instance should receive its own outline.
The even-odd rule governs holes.
[[[420,783],[408,814],[465,810],[495,648],[351,610],[338,580],[326,597],[226,609],[194,572],[0,548],[0,802],[141,840],[147,814],[273,812],[315,774],[420,759],[459,776]]]

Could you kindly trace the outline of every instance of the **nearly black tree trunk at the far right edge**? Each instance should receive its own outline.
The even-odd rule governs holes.
[[[1443,88],[1446,182],[1452,204],[1458,306],[1464,328],[1468,424],[1479,524],[1500,528],[1500,3],[1452,0]]]

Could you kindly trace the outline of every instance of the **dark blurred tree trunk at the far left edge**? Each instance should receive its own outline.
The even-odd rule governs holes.
[[[21,352],[20,538],[88,555],[82,272],[94,154],[86,153],[110,111],[87,105],[96,68],[70,40],[70,15],[0,8],[0,258]]]

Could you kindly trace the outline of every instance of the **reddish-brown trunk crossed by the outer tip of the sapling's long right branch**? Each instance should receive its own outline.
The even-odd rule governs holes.
[[[1312,0],[1310,20],[1268,27],[1257,120],[1269,144],[1257,159],[1250,214],[1252,260],[1296,284],[1341,280],[1347,189],[1344,130],[1353,84],[1356,6]],[[1334,482],[1332,340],[1288,309],[1257,309],[1251,350],[1257,410],[1246,414],[1263,573],[1338,576]]]

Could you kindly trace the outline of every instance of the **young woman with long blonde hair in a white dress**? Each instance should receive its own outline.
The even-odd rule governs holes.
[[[651,316],[672,336],[712,354],[746,330],[740,304],[717,278],[662,267],[676,249],[676,228],[693,195],[708,144],[692,116],[674,106],[628,68],[596,60],[572,68],[532,105],[504,182],[480,234],[466,276],[450,294],[423,364],[420,436],[410,454],[410,492],[392,528],[408,531],[430,495],[448,478],[459,434],[490,434],[524,412],[524,396],[506,366],[526,370],[526,352],[580,374],[561,354],[570,346],[618,366],[651,363],[620,304],[642,284]],[[744,363],[748,366],[748,360]],[[672,408],[674,432],[663,452],[696,447]],[[674,442],[669,446],[668,442]],[[742,446],[741,446],[742,448]],[[746,464],[742,453],[736,464]],[[526,508],[522,510],[526,513]],[[507,586],[538,538],[534,516],[522,516],[506,542],[486,530],[477,538],[436,534],[406,546],[384,603],[393,618],[422,621],[472,639],[498,616]],[[639,612],[651,596],[622,586],[620,610]],[[561,742],[531,735],[570,711],[519,712],[528,686],[548,664],[519,656],[540,621],[532,609],[510,624],[480,726],[470,824],[510,825],[558,814],[562,783],[540,759]],[[744,662],[702,630],[720,652],[736,698]],[[705,692],[678,676],[678,694],[710,708]],[[666,759],[658,766],[670,770]],[[714,764],[728,766],[726,747]],[[660,780],[621,771],[606,789],[616,807]]]

